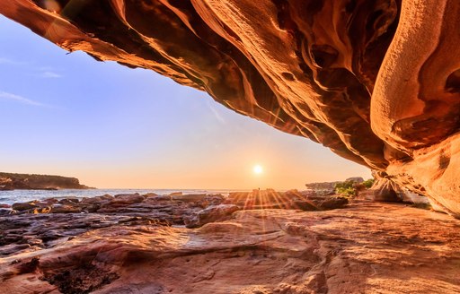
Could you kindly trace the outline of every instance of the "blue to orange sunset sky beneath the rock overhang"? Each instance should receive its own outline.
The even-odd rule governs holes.
[[[0,134],[0,171],[78,177],[99,188],[284,190],[370,177],[205,92],[68,54],[2,15]]]

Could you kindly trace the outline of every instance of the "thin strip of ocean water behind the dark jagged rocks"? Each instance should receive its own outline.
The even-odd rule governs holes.
[[[23,203],[31,200],[40,200],[45,198],[66,198],[66,197],[94,197],[101,195],[119,195],[119,194],[135,194],[144,195],[147,193],[155,193],[157,195],[169,195],[173,192],[182,192],[182,194],[222,194],[228,195],[235,191],[247,190],[218,190],[218,189],[63,189],[56,191],[49,190],[13,190],[0,191],[0,204]]]

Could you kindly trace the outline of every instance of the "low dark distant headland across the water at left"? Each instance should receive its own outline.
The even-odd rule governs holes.
[[[0,172],[0,191],[4,190],[93,189],[80,184],[76,177],[61,177]]]

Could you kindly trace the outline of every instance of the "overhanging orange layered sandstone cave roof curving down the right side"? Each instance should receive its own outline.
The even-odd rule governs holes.
[[[208,91],[460,214],[456,0],[12,0],[0,13]]]

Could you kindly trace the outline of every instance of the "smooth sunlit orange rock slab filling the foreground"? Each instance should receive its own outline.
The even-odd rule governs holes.
[[[458,293],[460,220],[403,204],[119,222],[0,259],[3,293]],[[78,278],[79,277],[79,278]]]

